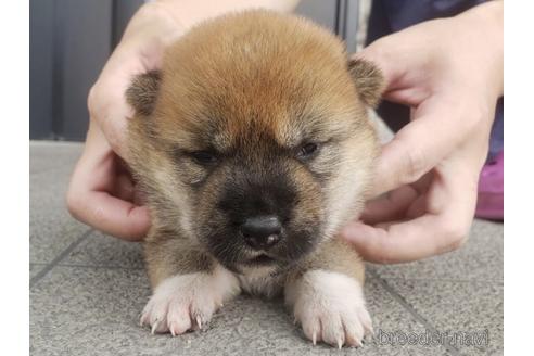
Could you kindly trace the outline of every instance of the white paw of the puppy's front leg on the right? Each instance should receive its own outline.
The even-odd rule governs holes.
[[[341,348],[361,346],[372,334],[364,293],[358,281],[339,272],[312,270],[285,287],[285,301],[293,307],[295,321],[316,344],[323,341]]]

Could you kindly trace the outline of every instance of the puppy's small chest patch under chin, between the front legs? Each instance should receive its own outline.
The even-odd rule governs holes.
[[[236,276],[244,292],[267,297],[280,294],[285,280],[285,275],[271,276],[270,270],[263,268],[245,270],[243,274]]]

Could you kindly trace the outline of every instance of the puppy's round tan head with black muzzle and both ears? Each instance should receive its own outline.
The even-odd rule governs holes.
[[[363,204],[377,153],[366,109],[381,88],[379,71],[303,18],[199,25],[127,93],[155,220],[232,270],[298,260]]]

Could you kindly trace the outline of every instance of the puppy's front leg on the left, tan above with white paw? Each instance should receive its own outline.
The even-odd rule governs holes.
[[[223,302],[240,292],[233,274],[168,232],[151,233],[144,252],[154,292],[141,326],[149,325],[152,333],[202,329]]]

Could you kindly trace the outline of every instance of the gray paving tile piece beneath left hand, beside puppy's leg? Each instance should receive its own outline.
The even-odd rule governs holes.
[[[93,232],[61,264],[144,268],[142,244]]]

